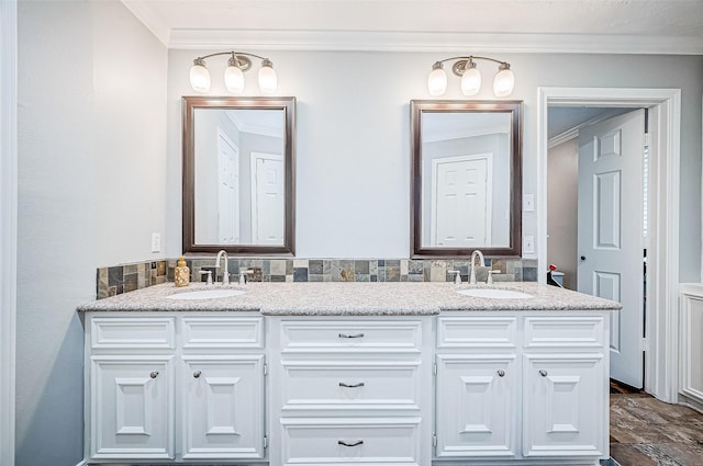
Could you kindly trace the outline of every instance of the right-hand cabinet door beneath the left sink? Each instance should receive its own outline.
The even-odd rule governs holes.
[[[264,457],[264,356],[185,356],[183,458]]]

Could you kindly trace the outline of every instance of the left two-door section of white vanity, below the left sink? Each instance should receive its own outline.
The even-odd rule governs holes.
[[[260,316],[86,315],[89,464],[264,459]]]

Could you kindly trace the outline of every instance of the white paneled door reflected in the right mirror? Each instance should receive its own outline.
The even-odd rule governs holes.
[[[492,155],[434,159],[432,171],[432,246],[490,246]]]

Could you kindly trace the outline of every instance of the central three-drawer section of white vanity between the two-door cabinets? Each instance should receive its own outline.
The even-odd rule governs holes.
[[[271,318],[271,464],[429,465],[432,319]]]

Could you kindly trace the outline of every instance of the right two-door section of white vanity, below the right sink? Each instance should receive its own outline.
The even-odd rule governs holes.
[[[607,457],[607,325],[599,311],[440,316],[437,464],[598,464]]]

